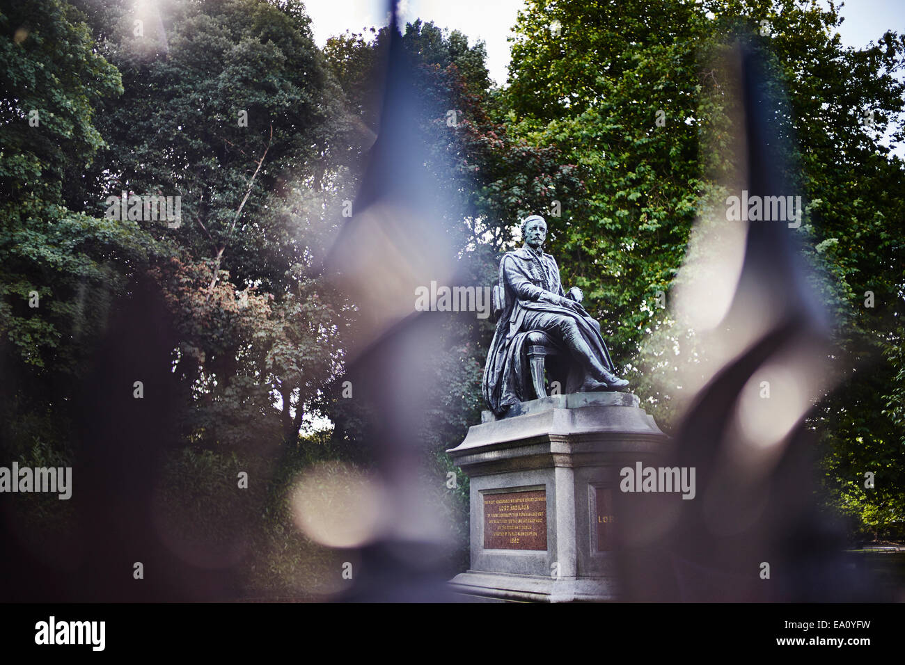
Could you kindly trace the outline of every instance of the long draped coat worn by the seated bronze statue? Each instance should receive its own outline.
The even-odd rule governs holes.
[[[613,371],[613,361],[600,335],[600,325],[594,318],[588,316],[584,309],[584,314],[581,314],[550,302],[554,295],[565,296],[559,279],[559,267],[552,256],[545,253],[538,257],[527,247],[506,252],[500,260],[500,287],[505,294],[504,305],[497,319],[497,329],[481,382],[484,399],[493,413],[502,415],[510,405],[535,397],[524,348],[530,332],[525,326],[529,311],[543,312],[554,318],[574,318],[588,345],[602,348],[603,357],[600,360],[609,371]],[[551,341],[557,345],[562,343],[554,337]],[[567,353],[565,348],[562,351]],[[574,361],[566,365],[568,371],[564,392],[575,392],[586,378],[585,371]]]

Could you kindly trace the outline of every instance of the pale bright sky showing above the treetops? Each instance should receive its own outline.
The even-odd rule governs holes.
[[[459,30],[472,43],[483,40],[491,79],[502,85],[510,60],[506,38],[525,4],[524,0],[400,0],[399,10],[405,23],[421,18]],[[329,36],[387,22],[384,0],[305,0],[305,6],[320,46]],[[886,30],[905,33],[905,0],[848,0],[841,14],[845,21],[839,34],[846,46],[866,46]]]

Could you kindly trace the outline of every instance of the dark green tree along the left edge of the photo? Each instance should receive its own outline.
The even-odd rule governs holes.
[[[96,109],[121,91],[83,16],[59,0],[0,9],[0,386],[15,455],[67,448],[73,378],[110,302],[161,248],[129,220],[65,204],[65,181],[104,145]]]

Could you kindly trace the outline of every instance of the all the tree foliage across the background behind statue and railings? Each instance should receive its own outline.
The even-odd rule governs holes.
[[[179,339],[180,426],[158,505],[171,545],[238,560],[242,543],[249,587],[327,593],[319,580],[341,561],[300,533],[288,500],[314,465],[336,477],[337,461],[367,468],[364,424],[376,414],[342,395],[355,303],[310,268],[375,139],[388,29],[345,33],[321,52],[297,0],[159,0],[140,15],[125,0],[73,5],[0,4],[2,450],[71,461],[74,386],[110,310],[149,275]],[[826,503],[882,536],[905,515],[905,190],[881,141],[905,139],[905,40],[889,32],[846,49],[839,23],[834,5],[791,0],[538,0],[519,13],[502,89],[483,43],[420,20],[401,39],[423,105],[411,121],[462,281],[494,283],[519,219],[544,214],[564,283],[584,290],[668,429],[681,405],[672,376],[706,357],[655,299],[669,303],[692,223],[738,167],[724,158],[738,109],[719,57],[733,33],[755,33],[771,93],[787,98],[776,123],[797,147],[800,234],[839,321],[840,387],[810,423]],[[179,195],[182,225],[108,218],[107,197],[123,191]],[[490,320],[451,315],[425,395],[424,480],[462,544],[453,569],[468,556],[468,480],[445,451],[480,420],[492,332]],[[300,435],[312,414],[333,428]],[[240,495],[240,470],[267,480]],[[23,515],[60,531],[63,513],[42,501]]]

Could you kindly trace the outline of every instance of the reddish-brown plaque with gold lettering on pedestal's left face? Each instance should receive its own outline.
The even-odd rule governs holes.
[[[484,495],[485,549],[547,549],[547,490]]]

